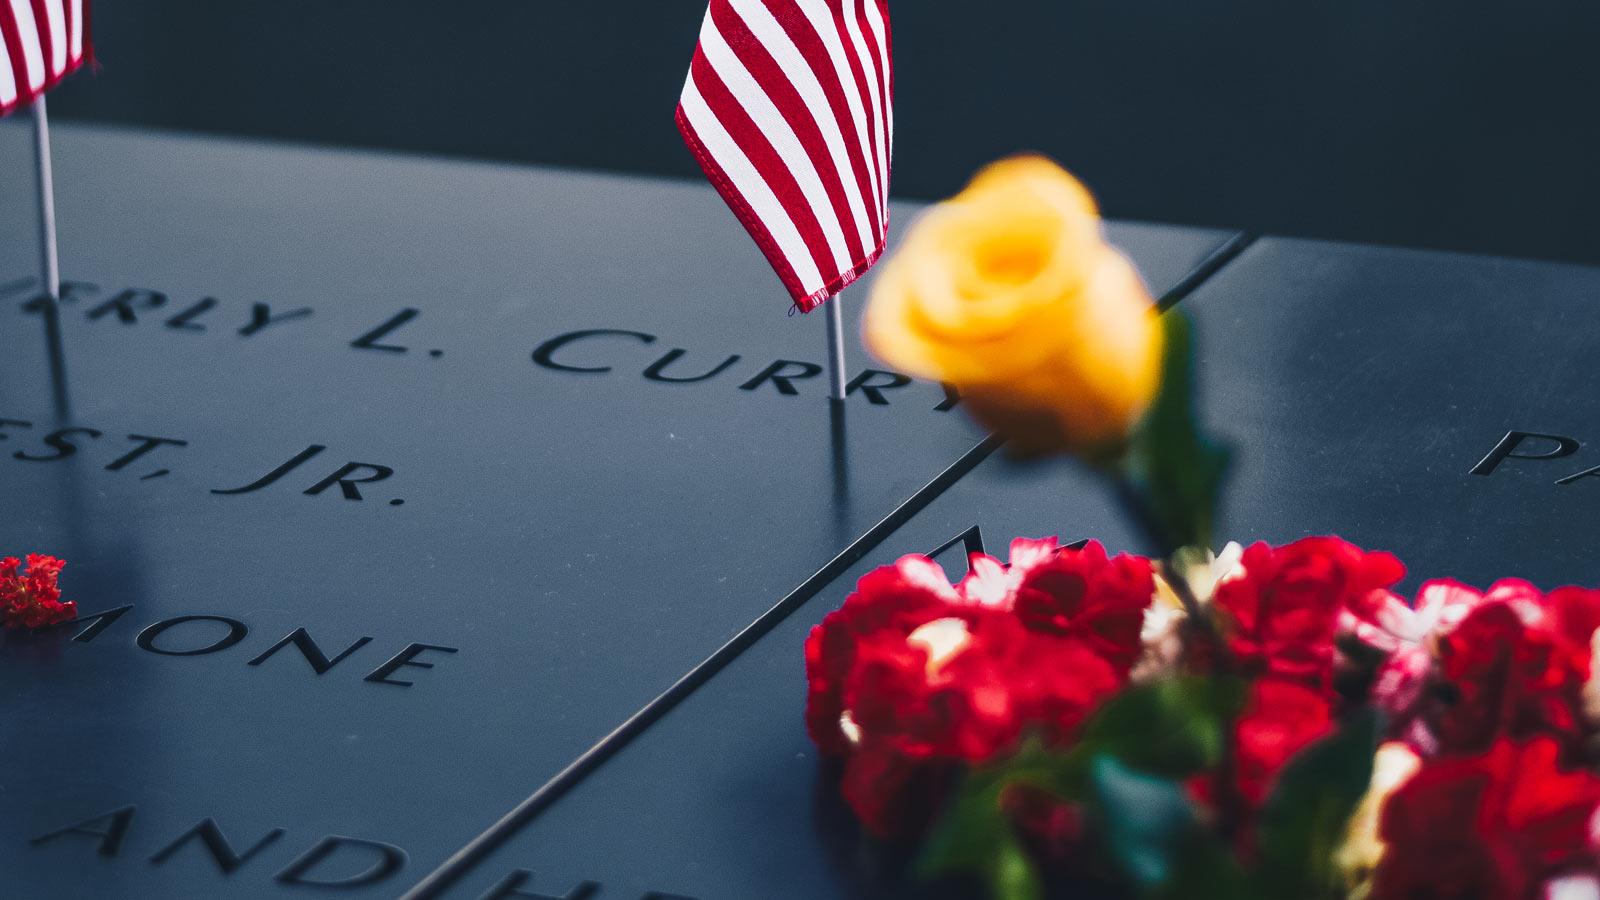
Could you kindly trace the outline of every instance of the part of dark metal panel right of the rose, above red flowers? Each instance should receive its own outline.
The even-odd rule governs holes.
[[[1600,269],[1262,239],[1184,306],[1240,447],[1227,533],[1339,533],[1410,585],[1600,583]],[[1472,474],[1509,431],[1581,447]]]

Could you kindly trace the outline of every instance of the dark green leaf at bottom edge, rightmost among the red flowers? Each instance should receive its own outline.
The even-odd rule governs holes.
[[[1373,780],[1379,716],[1365,708],[1278,773],[1261,810],[1259,879],[1264,895],[1320,900],[1342,895],[1334,852]]]

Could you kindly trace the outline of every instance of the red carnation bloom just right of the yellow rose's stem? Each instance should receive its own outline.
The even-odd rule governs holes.
[[[1229,621],[1229,647],[1251,674],[1326,689],[1341,613],[1370,620],[1405,577],[1392,554],[1339,538],[1304,538],[1245,549],[1243,573],[1218,585],[1213,604]]]

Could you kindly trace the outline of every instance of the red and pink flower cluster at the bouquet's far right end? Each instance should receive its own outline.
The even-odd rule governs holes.
[[[1429,581],[1357,617],[1389,653],[1373,698],[1422,759],[1384,804],[1376,900],[1600,895],[1597,628],[1600,591],[1512,580]]]

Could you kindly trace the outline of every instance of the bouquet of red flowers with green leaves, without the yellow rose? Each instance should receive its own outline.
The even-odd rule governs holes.
[[[1390,593],[1338,538],[1190,573],[1018,540],[907,556],[806,642],[851,809],[997,897],[1600,895],[1600,591]],[[1570,894],[1558,894],[1558,890]]]

